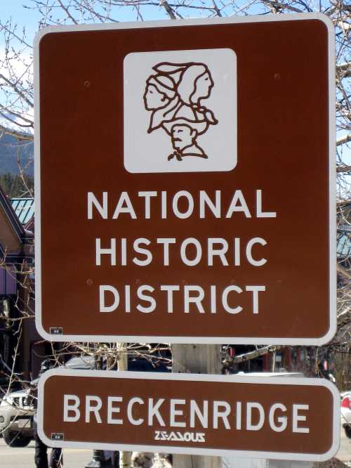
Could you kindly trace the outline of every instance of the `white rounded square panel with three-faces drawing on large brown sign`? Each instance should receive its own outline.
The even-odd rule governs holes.
[[[124,59],[124,167],[132,173],[237,165],[237,56],[230,48]]]

